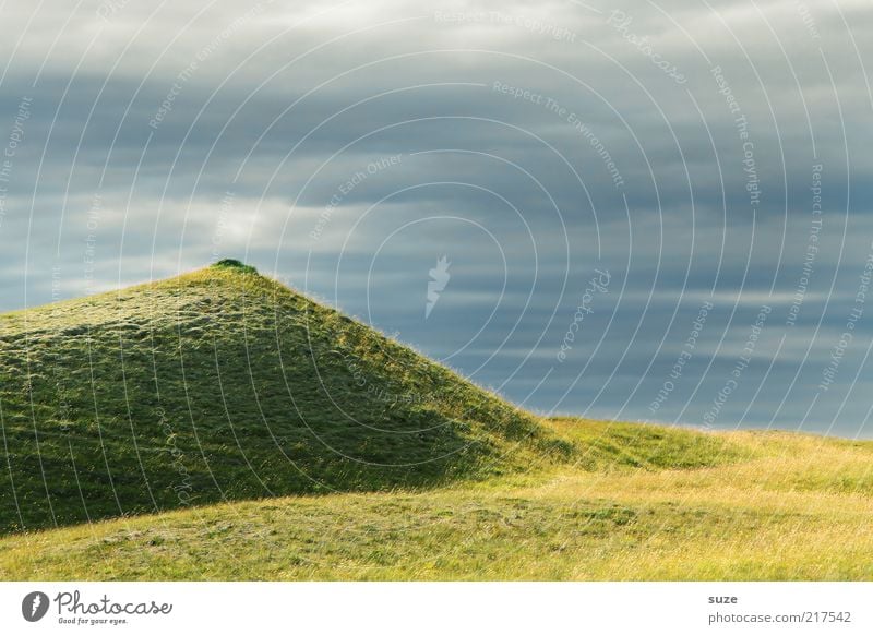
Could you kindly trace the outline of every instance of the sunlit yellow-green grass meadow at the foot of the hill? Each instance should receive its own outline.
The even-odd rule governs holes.
[[[0,541],[0,572],[14,579],[873,578],[871,443],[545,423],[572,428],[579,443],[631,443],[645,465],[601,455],[599,466],[551,465],[432,490],[248,501],[19,535]],[[674,441],[710,451],[706,465],[662,464]]]

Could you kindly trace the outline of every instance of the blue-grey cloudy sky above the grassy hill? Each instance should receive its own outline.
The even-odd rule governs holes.
[[[0,311],[234,257],[537,412],[873,438],[869,0],[0,7]]]

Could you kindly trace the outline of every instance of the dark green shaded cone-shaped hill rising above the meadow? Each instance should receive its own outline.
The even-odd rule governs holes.
[[[529,415],[235,262],[0,316],[0,534],[384,490],[571,453]]]

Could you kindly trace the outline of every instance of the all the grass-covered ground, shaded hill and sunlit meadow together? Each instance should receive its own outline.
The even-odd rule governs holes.
[[[0,373],[0,579],[873,579],[873,443],[537,419],[241,263]]]

